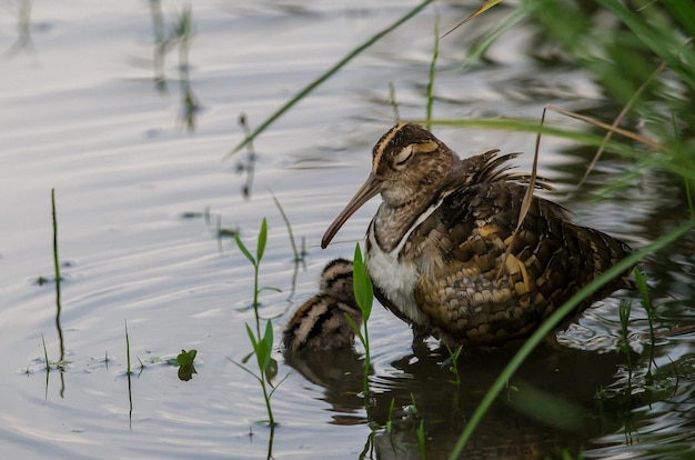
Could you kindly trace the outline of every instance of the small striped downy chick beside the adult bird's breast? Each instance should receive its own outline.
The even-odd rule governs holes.
[[[320,351],[350,348],[354,330],[345,318],[362,324],[362,312],[352,288],[352,262],[335,259],[329,262],[320,280],[320,292],[304,302],[284,329],[282,342],[286,351]]]

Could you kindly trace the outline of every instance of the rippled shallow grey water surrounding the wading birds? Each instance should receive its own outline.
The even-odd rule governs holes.
[[[245,153],[224,159],[242,139],[239,114],[260,123],[412,3],[194,4],[189,77],[200,111],[193,132],[182,122],[175,50],[165,60],[167,90],[153,81],[149,7],[36,3],[31,46],[1,63],[0,449],[7,458],[265,458],[272,450],[278,459],[323,459],[356,458],[371,441],[375,457],[405,459],[420,458],[416,428],[424,420],[427,458],[445,458],[512,350],[465,356],[456,387],[441,364],[446,357],[433,347],[414,356],[407,328],[377,307],[370,320],[369,414],[354,394],[361,390],[359,352],[291,367],[276,351],[279,379],[290,377],[273,394],[280,426],[271,437],[256,423],[265,418],[258,383],[232,362],[250,351],[244,323],[253,322],[253,270],[233,241],[216,238],[219,217],[253,248],[268,218],[261,283],[282,292],[261,294],[262,313],[273,318],[279,338],[293,309],[314,293],[323,266],[352,256],[377,206],[365,206],[335,243],[319,249],[326,226],[366,177],[372,144],[393,123],[389,82],[402,118],[424,116],[433,10],[354,60],[261,136],[244,198],[245,177],[236,166]],[[172,22],[182,8],[164,3],[164,20]],[[442,28],[464,16],[453,2],[439,8]],[[540,71],[531,24],[518,24],[485,62],[462,71],[470,43],[510,11],[493,9],[441,42],[435,116],[537,119],[546,103],[605,107],[583,72],[546,61]],[[0,48],[12,47],[17,30],[17,16],[0,18]],[[533,136],[436,133],[462,156],[490,147],[533,151]],[[682,191],[658,173],[596,201],[597,187],[631,167],[618,158],[602,161],[582,192],[563,194],[592,154],[565,141],[543,141],[541,173],[557,181],[555,199],[580,222],[639,247],[685,218]],[[528,169],[531,156],[518,164]],[[52,188],[64,278],[60,329],[51,281]],[[271,189],[294,236],[305,241],[308,256],[299,267]],[[661,306],[658,330],[695,322],[694,248],[691,236],[644,266]],[[587,458],[664,458],[693,448],[693,334],[658,341],[654,381],[647,381],[649,349],[641,340],[647,326],[635,307],[631,328],[642,354],[628,386],[618,366],[625,359],[613,352],[621,298],[636,294],[620,292],[586,312],[561,334],[570,347],[536,351],[484,419],[466,458],[523,458],[563,448],[583,449]],[[125,321],[137,371],[130,380]],[[67,363],[47,373],[42,340],[49,360],[58,361],[59,331]],[[198,350],[198,373],[185,382],[164,362],[181,349]],[[527,410],[538,406],[526,399],[536,390],[541,401],[560,408],[562,420],[538,420]]]

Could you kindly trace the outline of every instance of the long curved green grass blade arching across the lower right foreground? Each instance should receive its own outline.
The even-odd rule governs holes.
[[[613,278],[620,276],[625,270],[628,270],[639,260],[644,259],[648,254],[657,251],[658,249],[665,247],[666,244],[677,240],[688,231],[695,229],[695,221],[691,220],[686,223],[681,224],[675,228],[667,234],[658,238],[652,243],[647,244],[643,249],[633,252],[631,256],[623,259],[621,262],[612,267],[606,272],[598,276],[592,282],[582,288],[577,293],[575,293],[570,300],[567,300],[561,308],[558,308],[548,319],[546,319],[535,331],[533,336],[531,336],[524,344],[520,348],[516,354],[512,358],[510,363],[502,370],[497,379],[494,381],[487,393],[483,397],[481,403],[475,409],[475,412],[471,416],[469,423],[465,426],[461,437],[456,441],[454,449],[449,456],[450,460],[455,460],[461,456],[463,448],[466,442],[473,434],[473,431],[482,420],[483,416],[490,409],[495,398],[500,394],[500,392],[504,389],[506,382],[510,381],[514,372],[520,368],[520,366],[524,362],[524,360],[531,354],[533,349],[543,341],[544,337],[550,333],[560,322],[572,311],[574,310],[584,299],[591,296],[593,292],[605,286]]]

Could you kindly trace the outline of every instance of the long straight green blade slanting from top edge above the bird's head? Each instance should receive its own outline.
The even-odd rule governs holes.
[[[292,99],[290,99],[288,102],[285,102],[284,106],[282,106],[280,109],[275,110],[250,136],[246,136],[246,138],[243,141],[241,141],[236,147],[234,147],[232,149],[232,151],[226,154],[226,157],[231,157],[232,154],[236,153],[239,150],[244,148],[244,146],[246,146],[246,143],[253,141],[261,132],[265,131],[265,129],[268,129],[268,127],[270,127],[273,122],[275,122],[275,120],[278,120],[280,117],[282,117],[295,103],[298,103],[299,101],[304,99],[313,90],[315,90],[322,83],[324,83],[326,80],[329,80],[331,77],[333,77],[333,74],[335,74],[339,70],[341,70],[343,67],[345,67],[345,64],[348,64],[350,61],[352,61],[355,57],[360,56],[364,50],[370,48],[372,44],[376,43],[379,40],[381,40],[382,38],[387,36],[389,33],[393,32],[395,29],[401,27],[403,23],[405,23],[406,21],[409,21],[410,19],[415,17],[420,11],[422,11],[427,4],[432,3],[433,1],[434,0],[424,0],[422,3],[417,4],[415,8],[413,8],[407,13],[405,13],[403,17],[401,17],[397,21],[395,21],[394,23],[392,23],[387,28],[383,29],[381,32],[372,36],[369,40],[366,40],[364,43],[362,43],[361,46],[359,46],[354,50],[350,51],[343,59],[338,61],[333,67],[331,67],[325,72],[323,72],[318,79],[315,79],[314,81],[309,83],[300,92],[298,92]]]

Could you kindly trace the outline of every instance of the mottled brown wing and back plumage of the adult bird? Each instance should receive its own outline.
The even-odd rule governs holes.
[[[494,171],[447,191],[401,254],[420,268],[415,302],[440,336],[464,344],[494,346],[528,336],[629,254],[625,243],[576,226],[564,208],[538,197],[514,236],[527,184]],[[575,313],[616,286],[587,299]]]

